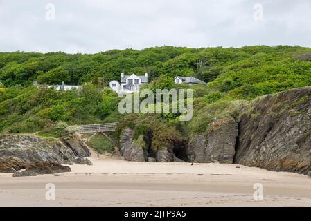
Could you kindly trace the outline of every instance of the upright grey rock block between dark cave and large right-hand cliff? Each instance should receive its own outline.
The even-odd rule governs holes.
[[[238,123],[231,116],[217,119],[205,134],[195,135],[187,152],[190,162],[232,164],[236,153]]]

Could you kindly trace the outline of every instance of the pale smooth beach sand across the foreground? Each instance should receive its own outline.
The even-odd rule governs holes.
[[[0,206],[311,206],[311,177],[231,164],[135,163],[90,158],[62,175],[0,173]],[[46,200],[46,184],[56,188]],[[254,200],[254,184],[263,200]]]

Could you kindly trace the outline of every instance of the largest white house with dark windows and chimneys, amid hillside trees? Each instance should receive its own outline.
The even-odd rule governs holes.
[[[124,75],[121,74],[121,83],[118,81],[111,81],[110,88],[116,93],[134,93],[138,92],[143,84],[148,84],[148,74],[145,75]]]

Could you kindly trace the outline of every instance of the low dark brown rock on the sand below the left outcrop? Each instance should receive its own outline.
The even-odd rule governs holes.
[[[36,162],[35,164],[30,164],[29,166],[27,166],[26,171],[16,172],[13,176],[24,177],[66,172],[71,172],[69,166],[62,166],[60,164],[52,162]]]

